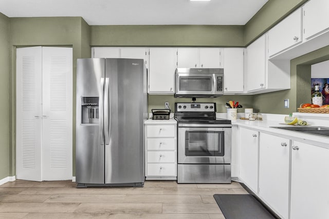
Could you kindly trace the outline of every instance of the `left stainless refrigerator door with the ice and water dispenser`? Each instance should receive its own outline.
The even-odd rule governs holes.
[[[76,182],[104,184],[104,58],[77,61]]]

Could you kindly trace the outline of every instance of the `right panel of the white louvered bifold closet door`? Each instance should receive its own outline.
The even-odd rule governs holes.
[[[72,48],[43,47],[43,180],[72,179]]]

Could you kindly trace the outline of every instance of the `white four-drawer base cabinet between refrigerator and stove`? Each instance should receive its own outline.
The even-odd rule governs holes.
[[[145,123],[147,180],[175,180],[177,177],[176,124],[164,123]]]

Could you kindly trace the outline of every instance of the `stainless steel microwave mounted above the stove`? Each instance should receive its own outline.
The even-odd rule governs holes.
[[[175,97],[217,97],[224,94],[223,68],[177,68]]]

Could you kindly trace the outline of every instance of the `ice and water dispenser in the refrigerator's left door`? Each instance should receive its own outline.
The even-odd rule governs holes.
[[[83,96],[81,99],[82,124],[98,124],[99,120],[99,97]]]

